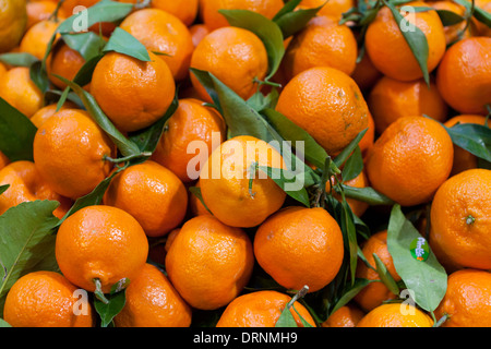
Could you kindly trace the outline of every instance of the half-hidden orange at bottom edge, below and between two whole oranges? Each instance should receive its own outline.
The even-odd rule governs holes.
[[[116,327],[189,327],[191,308],[168,278],[146,263],[125,290],[125,303]]]

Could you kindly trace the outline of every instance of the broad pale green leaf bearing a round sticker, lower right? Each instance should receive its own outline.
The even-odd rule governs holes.
[[[415,239],[422,238],[404,216],[400,205],[394,205],[387,229],[387,249],[397,274],[408,289],[412,290],[416,303],[432,312],[446,292],[447,275],[430,249],[427,261],[416,260],[410,251]]]

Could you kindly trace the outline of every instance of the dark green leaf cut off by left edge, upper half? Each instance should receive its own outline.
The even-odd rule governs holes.
[[[37,128],[21,111],[0,97],[0,151],[11,160],[33,161]]]

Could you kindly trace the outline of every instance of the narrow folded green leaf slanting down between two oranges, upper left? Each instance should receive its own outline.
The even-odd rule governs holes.
[[[109,118],[104,113],[104,111],[98,106],[94,96],[92,96],[88,92],[83,89],[80,85],[74,82],[68,81],[63,76],[55,75],[64,82],[70,88],[72,88],[75,94],[80,97],[85,108],[92,116],[92,118],[97,122],[97,124],[103,129],[111,141],[116,144],[118,149],[121,152],[123,156],[133,156],[139,155],[142,152],[139,146],[134,144],[132,141],[128,140],[109,120]]]

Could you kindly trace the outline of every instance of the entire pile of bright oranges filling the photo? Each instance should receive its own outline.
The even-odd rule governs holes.
[[[57,202],[59,221],[57,267],[27,263],[11,287],[0,287],[10,326],[99,326],[100,304],[122,294],[106,326],[274,327],[287,318],[299,327],[491,327],[491,167],[480,156],[491,151],[490,1],[476,1],[479,16],[466,0],[404,3],[405,11],[426,8],[399,12],[420,34],[412,45],[391,1],[376,1],[370,20],[374,1],[2,2],[0,97],[35,135],[24,145],[32,157],[0,147],[0,221],[36,201]],[[107,3],[131,8],[91,23],[80,35],[95,35],[83,47],[57,32]],[[310,17],[295,31],[283,25],[290,34],[277,69],[267,34],[230,24],[223,11],[278,23],[291,4],[284,22]],[[443,14],[463,21],[448,24]],[[111,41],[116,35],[128,43]],[[88,38],[99,40],[92,56]],[[414,47],[424,39],[422,69]],[[107,43],[112,49],[103,50]],[[129,55],[130,46],[143,47],[147,59]],[[286,173],[291,159],[259,137],[261,130],[237,131],[253,129],[255,119],[239,118],[248,109],[264,128],[282,117],[275,120],[289,122],[280,132],[287,141],[327,155],[324,169],[304,161],[320,179],[306,180],[307,205],[262,176],[260,168]],[[480,151],[448,132],[463,124],[481,127]],[[128,140],[154,146],[130,152]],[[336,188],[372,190],[384,202]],[[432,311],[417,303],[402,311],[385,281],[405,281],[387,246],[392,205],[417,213],[415,229],[448,275]],[[364,287],[326,306],[355,280]],[[81,290],[88,304],[75,311]]]

